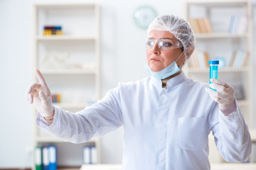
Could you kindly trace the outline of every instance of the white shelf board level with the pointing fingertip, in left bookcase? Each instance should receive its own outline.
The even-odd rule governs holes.
[[[95,70],[83,69],[41,69],[42,74],[96,74]]]

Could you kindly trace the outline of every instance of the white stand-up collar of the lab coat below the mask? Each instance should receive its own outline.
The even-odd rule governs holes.
[[[181,74],[178,74],[178,76],[173,77],[169,79],[169,81],[167,81],[166,83],[167,89],[173,88],[174,86],[180,84],[181,82],[186,81],[186,79],[188,79],[186,75],[183,72],[181,72]],[[151,76],[150,81],[151,81],[151,84],[153,84],[157,89],[159,90],[163,89],[162,82],[160,79],[156,79],[155,77]]]

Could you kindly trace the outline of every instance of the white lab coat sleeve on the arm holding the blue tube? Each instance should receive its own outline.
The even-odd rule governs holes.
[[[215,113],[218,113],[216,117],[218,121],[212,130],[216,147],[223,159],[227,162],[245,162],[250,155],[252,142],[250,132],[236,100],[235,104],[237,110],[228,116],[220,111],[218,105],[215,106],[214,110]]]

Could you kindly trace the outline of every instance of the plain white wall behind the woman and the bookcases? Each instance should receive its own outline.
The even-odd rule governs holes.
[[[26,102],[32,83],[31,6],[58,0],[0,0],[0,168],[31,166],[32,111]],[[85,1],[85,0],[84,0]],[[92,0],[93,1],[93,0]],[[119,81],[145,77],[146,30],[137,28],[132,14],[137,6],[149,4],[159,14],[182,16],[183,1],[95,0],[102,16],[102,96]],[[93,1],[93,2],[95,2]],[[117,72],[118,70],[118,72]],[[102,137],[102,163],[122,161],[123,130]]]

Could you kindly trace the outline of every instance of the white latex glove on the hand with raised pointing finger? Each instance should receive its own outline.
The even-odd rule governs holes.
[[[38,113],[43,115],[43,117],[48,117],[53,115],[54,110],[50,89],[39,69],[36,69],[36,77],[38,78],[39,83],[34,82],[31,86],[28,86],[26,98],[31,104],[33,103]]]

